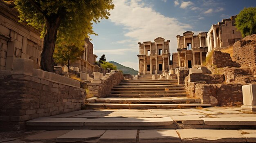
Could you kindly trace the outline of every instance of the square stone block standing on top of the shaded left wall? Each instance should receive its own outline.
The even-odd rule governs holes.
[[[24,58],[14,58],[13,74],[23,74],[31,76],[33,74],[33,60]]]

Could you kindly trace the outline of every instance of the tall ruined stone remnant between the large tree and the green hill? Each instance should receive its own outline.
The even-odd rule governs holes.
[[[93,73],[100,71],[101,68],[95,64],[98,56],[93,54],[93,44],[90,42],[89,38],[84,40],[84,53],[78,60],[71,63],[71,66],[78,67],[81,72]]]

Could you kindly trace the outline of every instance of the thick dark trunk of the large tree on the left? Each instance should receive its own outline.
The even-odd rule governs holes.
[[[58,27],[61,24],[61,15],[50,15],[46,18],[46,33],[41,53],[41,68],[48,72],[55,72],[53,53],[57,38]]]

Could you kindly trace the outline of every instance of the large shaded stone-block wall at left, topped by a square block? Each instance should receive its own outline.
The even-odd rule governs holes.
[[[74,110],[84,104],[80,82],[33,69],[33,60],[14,58],[13,71],[0,70],[0,130],[23,130],[25,121]]]

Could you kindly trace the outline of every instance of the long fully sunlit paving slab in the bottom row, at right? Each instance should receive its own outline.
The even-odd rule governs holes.
[[[239,130],[176,130],[184,142],[246,142],[245,136]]]

